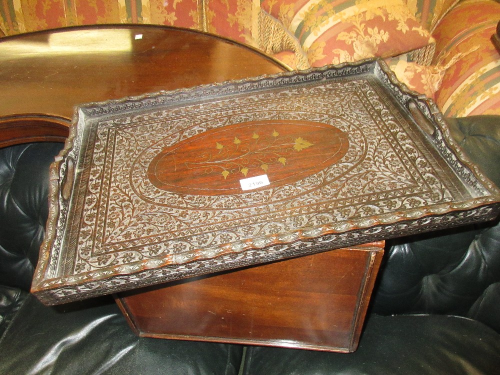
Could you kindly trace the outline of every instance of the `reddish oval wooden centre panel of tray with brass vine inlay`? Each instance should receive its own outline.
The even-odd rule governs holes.
[[[266,174],[269,188],[296,182],[335,163],[347,134],[312,121],[267,120],[227,125],[164,148],[147,177],[159,189],[196,195],[244,192],[239,180]]]

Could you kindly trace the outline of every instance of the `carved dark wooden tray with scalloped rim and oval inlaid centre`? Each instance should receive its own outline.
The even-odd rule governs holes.
[[[491,219],[498,191],[469,164],[378,61],[82,105],[32,291],[61,303]]]

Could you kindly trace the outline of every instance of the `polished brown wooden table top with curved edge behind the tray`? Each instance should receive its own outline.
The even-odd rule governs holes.
[[[237,42],[167,26],[81,26],[4,37],[0,146],[63,140],[81,103],[284,70]]]

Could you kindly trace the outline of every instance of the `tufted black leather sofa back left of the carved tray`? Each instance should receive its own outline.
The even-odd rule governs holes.
[[[0,148],[0,284],[29,290],[48,215],[48,167],[62,145]]]

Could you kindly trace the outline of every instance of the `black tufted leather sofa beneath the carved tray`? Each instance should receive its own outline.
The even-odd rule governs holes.
[[[500,185],[500,117],[449,120]],[[387,243],[349,354],[135,336],[110,297],[46,307],[28,293],[61,143],[0,149],[0,374],[497,374],[500,224]],[[304,301],[305,303],[305,301]]]

